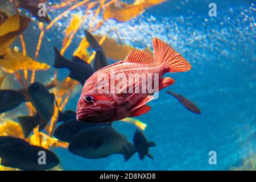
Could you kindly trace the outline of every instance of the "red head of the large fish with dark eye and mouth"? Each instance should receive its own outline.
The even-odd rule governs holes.
[[[82,93],[77,103],[76,119],[85,122],[110,122],[115,101],[105,94]]]

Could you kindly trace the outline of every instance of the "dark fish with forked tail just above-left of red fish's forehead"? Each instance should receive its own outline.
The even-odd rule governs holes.
[[[73,56],[71,61],[62,56],[56,47],[54,47],[54,52],[55,60],[53,67],[67,68],[70,71],[69,77],[79,81],[82,85],[93,74],[92,66],[79,57]]]

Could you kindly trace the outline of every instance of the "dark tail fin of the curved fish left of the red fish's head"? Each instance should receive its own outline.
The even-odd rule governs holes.
[[[39,115],[18,117],[24,137],[27,138],[31,131],[39,125]]]

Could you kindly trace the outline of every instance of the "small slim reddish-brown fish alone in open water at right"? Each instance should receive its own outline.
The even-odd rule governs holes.
[[[174,92],[167,91],[166,93],[171,94],[174,96],[184,107],[186,107],[188,110],[192,111],[193,113],[196,114],[201,114],[200,109],[191,101],[189,101],[187,98],[184,96],[178,95]]]

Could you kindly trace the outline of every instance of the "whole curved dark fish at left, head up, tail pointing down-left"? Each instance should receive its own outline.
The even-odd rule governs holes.
[[[34,82],[28,87],[32,105],[36,114],[32,117],[18,117],[24,136],[27,138],[31,131],[39,125],[39,130],[46,127],[54,112],[54,94],[49,93],[48,88],[39,82]]]

